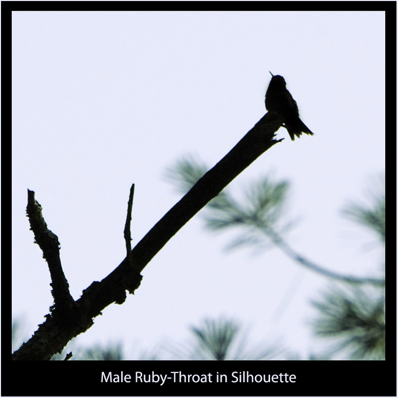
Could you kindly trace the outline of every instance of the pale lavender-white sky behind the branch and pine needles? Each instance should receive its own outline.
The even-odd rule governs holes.
[[[29,337],[52,304],[42,252],[25,217],[36,192],[77,299],[179,200],[165,171],[181,156],[214,166],[266,113],[281,74],[314,136],[285,138],[231,182],[237,195],[271,173],[291,183],[287,240],[322,267],[377,276],[376,238],[341,216],[385,161],[382,12],[14,12],[12,20],[12,314]],[[278,249],[225,252],[201,213],[142,272],[77,346],[122,341],[127,358],[223,315],[253,342],[317,346],[309,301],[330,281]]]

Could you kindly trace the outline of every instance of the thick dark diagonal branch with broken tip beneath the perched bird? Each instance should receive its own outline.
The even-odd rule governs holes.
[[[112,303],[122,304],[126,290],[134,294],[141,283],[140,272],[170,238],[257,157],[282,141],[274,140],[275,131],[282,123],[274,112],[264,115],[132,249],[131,263],[125,258],[102,281],[94,281],[83,290],[81,298],[73,303],[72,316],[64,316],[56,306],[51,314],[46,315],[46,321],[39,325],[32,338],[12,354],[12,359],[50,359],[61,352],[70,339],[89,329],[93,318],[105,307]]]

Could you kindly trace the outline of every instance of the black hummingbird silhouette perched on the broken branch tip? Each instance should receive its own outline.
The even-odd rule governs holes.
[[[267,110],[279,114],[292,141],[295,140],[295,136],[300,137],[303,132],[313,136],[313,132],[301,121],[297,102],[286,89],[283,76],[274,76],[272,73],[271,76],[266,93]]]

